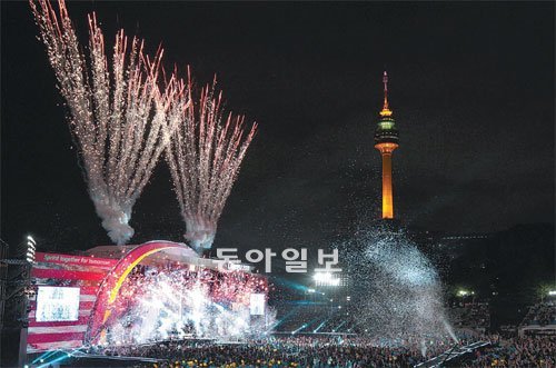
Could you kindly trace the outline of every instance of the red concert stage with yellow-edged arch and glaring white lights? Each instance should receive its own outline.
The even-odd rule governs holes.
[[[170,241],[102,246],[80,255],[38,252],[31,278],[37,292],[30,298],[29,354],[169,336],[232,336],[239,332],[229,325],[238,318],[245,330],[260,322],[268,297],[266,277],[249,266],[200,258]],[[141,325],[145,314],[155,319],[148,328]],[[145,334],[149,328],[152,336]]]

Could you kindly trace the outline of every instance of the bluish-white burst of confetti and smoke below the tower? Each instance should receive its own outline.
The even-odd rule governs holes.
[[[438,273],[405,235],[364,231],[346,250],[359,290],[357,320],[368,334],[423,346],[427,338],[454,335]]]

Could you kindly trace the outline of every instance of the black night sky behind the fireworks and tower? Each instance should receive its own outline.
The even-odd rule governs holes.
[[[373,135],[381,73],[399,129],[396,216],[483,232],[554,223],[554,3],[70,2],[83,42],[97,11],[161,42],[166,66],[217,72],[227,106],[259,123],[216,247],[319,248],[379,217]],[[109,243],[27,2],[1,3],[1,238],[39,250]],[[161,161],[131,242],[182,240]]]

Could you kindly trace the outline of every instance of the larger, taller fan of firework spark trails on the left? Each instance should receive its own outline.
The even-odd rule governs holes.
[[[89,16],[87,58],[63,0],[58,13],[47,0],[30,0],[30,6],[69,108],[89,195],[110,239],[122,245],[133,235],[128,222],[135,201],[176,126],[167,118],[180,87],[172,78],[167,91],[159,91],[161,49],[150,60],[143,41],[129,41],[120,30],[109,70],[95,13]]]

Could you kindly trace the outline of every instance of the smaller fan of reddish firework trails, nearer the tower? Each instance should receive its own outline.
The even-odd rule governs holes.
[[[245,117],[231,112],[225,117],[216,79],[195,95],[188,69],[182,99],[195,102],[185,109],[166,158],[187,226],[185,237],[199,251],[212,246],[218,219],[257,125],[247,132]]]

